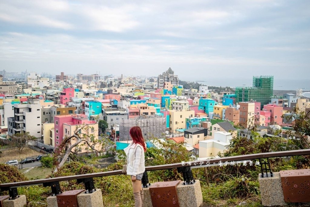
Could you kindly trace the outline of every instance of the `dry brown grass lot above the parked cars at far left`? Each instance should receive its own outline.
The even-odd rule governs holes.
[[[5,163],[9,160],[18,160],[25,159],[26,157],[36,157],[38,155],[41,155],[42,153],[35,151],[33,149],[30,149],[29,147],[25,147],[20,154],[17,148],[13,148],[10,150],[4,150],[2,151],[0,162]]]

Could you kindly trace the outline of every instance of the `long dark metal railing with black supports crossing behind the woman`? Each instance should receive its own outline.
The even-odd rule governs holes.
[[[223,163],[224,161],[244,161],[244,160],[255,160],[262,158],[275,158],[275,157],[288,157],[295,155],[310,155],[310,149],[305,150],[292,150],[292,151],[277,151],[277,152],[266,152],[266,153],[258,153],[251,155],[238,155],[231,157],[221,157],[215,159],[207,159],[207,160],[199,160],[200,167],[208,167],[210,164],[216,165],[219,163]],[[187,163],[175,163],[175,164],[165,164],[165,165],[156,165],[156,166],[148,166],[145,167],[144,176],[142,178],[142,184],[144,187],[150,185],[148,183],[147,171],[155,171],[155,170],[165,170],[165,169],[178,169],[178,172],[183,174],[184,184],[193,184],[195,182],[193,180],[193,174],[191,172],[191,167],[194,167],[194,164],[197,161],[187,162]],[[196,167],[195,167],[196,168]],[[262,168],[261,168],[262,169]],[[263,171],[263,169],[262,169]],[[122,170],[114,170],[108,172],[100,172],[100,173],[89,173],[83,175],[73,175],[73,176],[64,176],[58,178],[46,178],[39,180],[29,180],[22,182],[11,182],[11,183],[2,183],[0,184],[1,191],[9,191],[10,197],[13,199],[17,197],[17,187],[27,187],[33,185],[43,185],[44,187],[50,186],[52,188],[53,195],[58,195],[61,193],[59,182],[69,181],[69,180],[77,180],[78,183],[83,182],[85,184],[85,189],[91,193],[95,189],[93,178],[110,176],[110,175],[121,175]]]

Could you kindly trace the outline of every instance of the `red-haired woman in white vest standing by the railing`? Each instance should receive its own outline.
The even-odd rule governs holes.
[[[132,127],[129,134],[133,142],[124,149],[127,155],[127,175],[131,175],[135,206],[141,207],[144,197],[141,180],[145,171],[144,152],[146,145],[140,127]]]

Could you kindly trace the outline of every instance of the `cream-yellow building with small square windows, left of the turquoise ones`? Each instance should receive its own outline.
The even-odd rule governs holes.
[[[169,129],[170,133],[175,133],[176,129],[185,129],[186,121],[185,118],[194,117],[195,111],[192,110],[170,110],[170,123]]]

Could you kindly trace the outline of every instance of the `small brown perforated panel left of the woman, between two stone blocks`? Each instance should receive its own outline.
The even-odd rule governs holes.
[[[84,192],[85,190],[73,190],[65,191],[57,195],[58,207],[78,207],[78,194]]]

